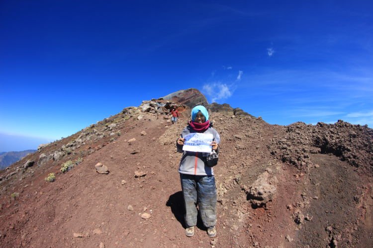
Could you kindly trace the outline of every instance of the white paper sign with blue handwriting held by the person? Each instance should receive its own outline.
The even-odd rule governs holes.
[[[190,152],[211,152],[212,133],[189,133],[185,135],[184,151]]]

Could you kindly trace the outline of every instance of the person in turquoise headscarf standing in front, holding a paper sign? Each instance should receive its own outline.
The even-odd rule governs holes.
[[[194,235],[194,226],[197,224],[197,204],[204,226],[209,237],[216,236],[216,186],[212,167],[206,165],[206,157],[210,153],[183,151],[187,134],[205,133],[212,134],[210,143],[212,150],[219,152],[218,143],[220,136],[212,128],[208,120],[208,112],[203,106],[196,106],[191,110],[191,121],[184,128],[180,138],[176,142],[179,152],[183,152],[180,161],[179,173],[185,202],[185,234],[188,237]],[[208,135],[207,135],[208,136]]]

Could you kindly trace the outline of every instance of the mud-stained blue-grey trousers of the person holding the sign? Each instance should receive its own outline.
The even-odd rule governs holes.
[[[197,204],[206,228],[216,224],[216,186],[214,176],[180,174],[187,227],[197,225]]]

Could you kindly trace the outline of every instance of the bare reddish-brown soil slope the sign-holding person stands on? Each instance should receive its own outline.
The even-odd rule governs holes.
[[[102,242],[105,247],[372,247],[370,164],[362,160],[355,167],[318,151],[299,162],[306,169],[294,166],[280,150],[273,152],[287,137],[286,127],[222,113],[211,114],[221,136],[214,168],[218,234],[208,238],[198,223],[195,236],[186,237],[178,174],[181,155],[175,142],[188,111],[174,125],[156,114],[141,113],[142,120],[133,115],[118,122],[116,131],[121,134],[114,140],[107,135],[87,141],[64,159],[19,170],[2,180],[0,246],[99,247]],[[52,146],[61,147],[78,136]],[[128,142],[131,138],[136,141]],[[42,152],[51,149],[47,146]],[[40,153],[0,176],[27,159],[38,160]],[[81,164],[59,173],[62,162],[78,157],[84,159]],[[98,162],[110,173],[96,173]],[[276,195],[264,207],[253,208],[243,189],[268,169],[279,181]],[[146,176],[135,178],[135,171]],[[44,180],[50,172],[56,173],[53,183]],[[13,192],[19,196],[11,197]],[[142,219],[143,213],[151,217]]]

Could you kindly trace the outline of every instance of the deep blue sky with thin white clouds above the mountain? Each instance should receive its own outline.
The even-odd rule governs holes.
[[[0,133],[55,140],[192,87],[271,124],[372,127],[372,13],[369,0],[2,0]]]

